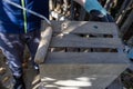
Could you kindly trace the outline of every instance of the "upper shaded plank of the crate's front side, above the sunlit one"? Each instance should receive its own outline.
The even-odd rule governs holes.
[[[113,65],[113,63],[89,63],[89,65],[68,65],[68,63],[61,63],[61,65],[55,65],[55,63],[45,63],[45,65],[40,65],[40,71],[41,75],[40,77],[43,78],[44,76],[52,76],[52,77],[59,77],[60,76],[65,76],[64,78],[69,78],[71,76],[78,77],[79,75],[88,75],[88,76],[115,76],[120,75],[125,69],[127,66],[126,65]],[[119,70],[117,70],[119,69]],[[111,72],[112,70],[112,72]]]

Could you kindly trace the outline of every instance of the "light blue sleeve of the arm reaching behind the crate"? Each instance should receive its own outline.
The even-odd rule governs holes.
[[[102,8],[98,0],[85,0],[84,8],[86,11],[91,12],[92,10],[98,10],[104,16],[106,16],[106,10]]]

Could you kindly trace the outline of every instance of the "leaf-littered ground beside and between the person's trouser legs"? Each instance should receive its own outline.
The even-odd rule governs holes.
[[[27,58],[27,57],[25,57]],[[0,52],[0,89],[12,89],[12,76],[11,71],[6,63],[6,58]],[[24,82],[27,89],[38,89],[40,83],[39,72],[35,71],[31,63],[23,63],[23,72],[24,72]]]

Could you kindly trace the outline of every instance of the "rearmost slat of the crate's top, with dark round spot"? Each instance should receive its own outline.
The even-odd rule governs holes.
[[[117,27],[113,22],[91,22],[91,21],[52,21],[54,32],[63,33],[100,33],[117,36]]]

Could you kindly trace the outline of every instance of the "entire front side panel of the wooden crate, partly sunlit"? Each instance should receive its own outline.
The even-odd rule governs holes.
[[[126,65],[41,65],[40,77],[47,89],[105,89]]]

